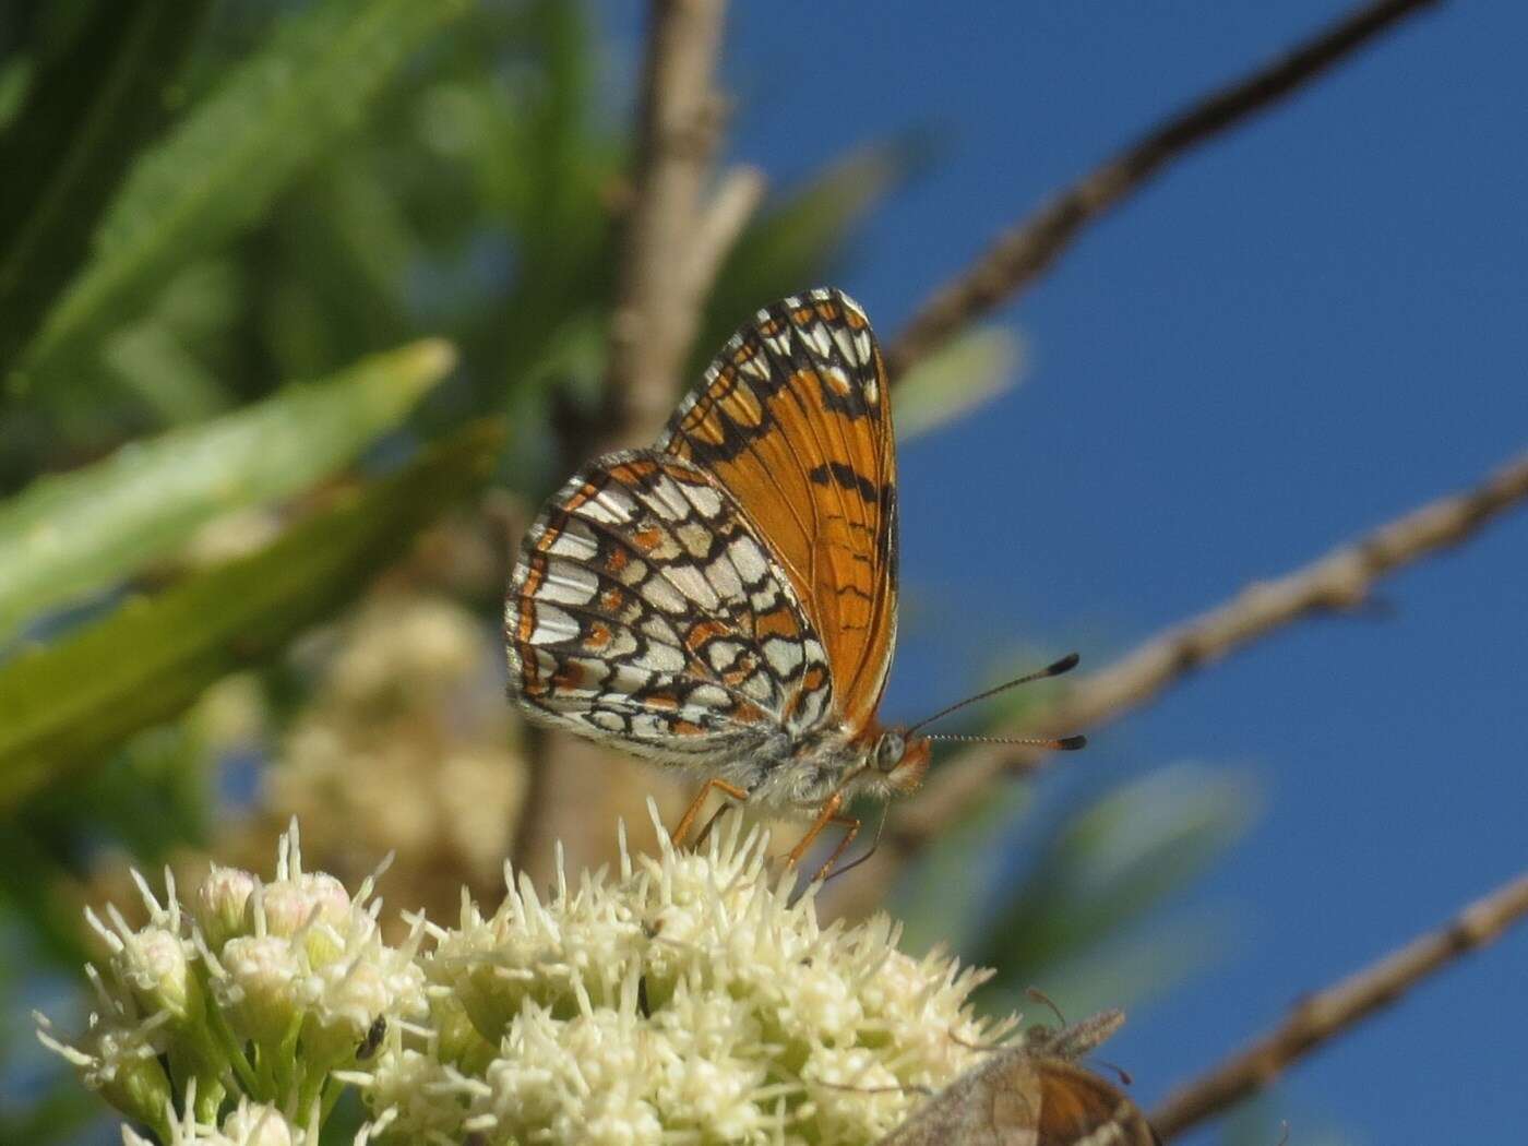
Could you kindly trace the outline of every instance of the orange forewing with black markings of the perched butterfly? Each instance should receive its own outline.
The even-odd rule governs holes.
[[[897,451],[865,312],[839,290],[759,310],[657,448],[758,526],[822,634],[839,715],[866,727],[895,643]]]

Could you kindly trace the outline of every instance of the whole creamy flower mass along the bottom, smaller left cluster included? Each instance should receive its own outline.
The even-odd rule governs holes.
[[[983,973],[903,955],[886,917],[821,927],[733,819],[681,853],[654,816],[659,856],[622,833],[614,876],[542,897],[510,872],[497,911],[463,894],[396,949],[370,880],[303,874],[293,828],[275,882],[214,869],[191,921],[141,883],[147,927],[98,924],[92,1030],[43,1039],[167,1143],[309,1146],[345,1085],[377,1143],[872,1143],[1013,1021],[975,1018]]]

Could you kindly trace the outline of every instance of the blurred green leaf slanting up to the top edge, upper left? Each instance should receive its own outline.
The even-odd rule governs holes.
[[[147,307],[157,286],[248,228],[354,130],[410,57],[468,0],[325,0],[289,17],[133,168],[98,252],[24,353],[66,373]]]

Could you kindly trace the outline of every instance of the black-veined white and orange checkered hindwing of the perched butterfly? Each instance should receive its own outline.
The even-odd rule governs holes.
[[[833,709],[790,579],[683,457],[628,451],[579,471],[526,535],[504,623],[529,715],[665,762],[747,759]]]

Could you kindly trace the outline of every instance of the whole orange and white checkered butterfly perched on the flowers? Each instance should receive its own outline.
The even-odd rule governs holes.
[[[821,877],[859,830],[850,801],[914,792],[927,721],[879,718],[897,445],[859,304],[817,289],[764,307],[651,449],[575,474],[521,541],[504,637],[527,718],[704,779],[675,840],[718,788],[811,819],[792,863],[842,825]]]

